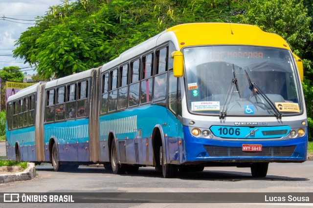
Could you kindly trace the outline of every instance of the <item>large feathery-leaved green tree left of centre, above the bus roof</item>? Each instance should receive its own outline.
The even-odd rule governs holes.
[[[84,0],[54,6],[23,32],[14,57],[46,78],[97,67],[166,28],[187,22],[231,22],[248,0]]]

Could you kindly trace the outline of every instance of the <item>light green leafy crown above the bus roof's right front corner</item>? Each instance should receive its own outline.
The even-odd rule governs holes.
[[[252,0],[246,15],[239,17],[242,23],[282,36],[302,57],[302,48],[312,39],[307,11],[302,0]]]

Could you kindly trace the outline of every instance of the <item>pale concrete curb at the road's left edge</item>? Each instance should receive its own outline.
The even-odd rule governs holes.
[[[36,169],[34,163],[27,163],[27,168],[18,173],[0,175],[0,184],[5,184],[13,181],[27,181],[36,177]]]

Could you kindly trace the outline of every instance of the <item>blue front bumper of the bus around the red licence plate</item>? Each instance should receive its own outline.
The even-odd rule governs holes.
[[[284,141],[220,141],[193,137],[184,126],[186,160],[230,162],[300,162],[306,161],[308,136]],[[262,152],[242,151],[243,144],[262,145]]]

